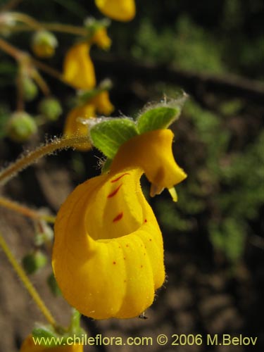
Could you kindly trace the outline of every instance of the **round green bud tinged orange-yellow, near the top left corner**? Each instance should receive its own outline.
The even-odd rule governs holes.
[[[32,38],[32,51],[39,58],[50,58],[58,46],[55,35],[46,30],[39,30]]]

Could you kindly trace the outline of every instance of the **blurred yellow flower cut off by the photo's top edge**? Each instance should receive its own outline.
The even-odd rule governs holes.
[[[136,13],[134,0],[95,0],[99,10],[113,20],[130,21]]]

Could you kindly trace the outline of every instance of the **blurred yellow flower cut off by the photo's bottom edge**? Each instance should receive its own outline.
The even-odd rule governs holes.
[[[82,352],[83,346],[73,345],[73,346],[40,346],[36,345],[32,339],[32,335],[29,335],[23,342],[20,352]]]

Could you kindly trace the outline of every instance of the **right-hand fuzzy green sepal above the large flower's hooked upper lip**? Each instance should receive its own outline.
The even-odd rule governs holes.
[[[175,121],[181,112],[181,108],[160,106],[146,111],[137,119],[137,128],[139,133],[145,133],[153,130],[161,130],[167,128]]]

